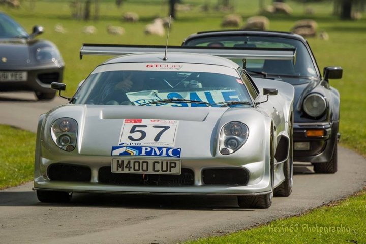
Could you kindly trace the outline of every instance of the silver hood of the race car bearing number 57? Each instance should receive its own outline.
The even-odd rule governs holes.
[[[71,110],[73,112],[70,113]],[[211,107],[67,105],[56,109],[53,113],[57,113],[57,118],[75,118],[78,123],[77,150],[81,155],[111,156],[112,147],[126,145],[122,144],[125,141],[121,138],[124,120],[144,119],[143,121],[176,121],[175,142],[165,146],[156,145],[157,147],[181,148],[181,157],[189,155],[204,158],[214,154],[218,126],[227,110],[228,108]],[[50,120],[54,121],[48,119]],[[143,130],[146,133],[156,134],[156,131]],[[127,133],[129,131],[130,128]],[[133,137],[138,138],[140,135],[137,132]],[[129,145],[141,146],[138,142]]]

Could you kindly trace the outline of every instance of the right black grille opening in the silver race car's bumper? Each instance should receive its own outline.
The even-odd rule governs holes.
[[[249,181],[245,169],[206,169],[202,176],[206,185],[247,185]]]

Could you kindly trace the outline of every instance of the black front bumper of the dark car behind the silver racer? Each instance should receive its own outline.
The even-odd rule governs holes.
[[[307,130],[324,130],[324,135],[307,137]],[[324,163],[332,156],[338,140],[338,121],[326,123],[294,123],[294,161]],[[309,150],[295,150],[296,142],[309,142]]]

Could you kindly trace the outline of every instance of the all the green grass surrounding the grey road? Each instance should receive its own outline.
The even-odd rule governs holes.
[[[220,22],[225,13],[218,13],[210,10],[207,14],[202,14],[199,5],[206,0],[185,1],[195,6],[192,12],[178,13],[172,31],[170,33],[170,45],[180,45],[181,41],[197,31],[209,29],[221,29]],[[208,1],[212,5],[216,0]],[[266,1],[269,4],[271,1]],[[291,1],[288,2],[294,9],[292,16],[268,16],[270,19],[270,29],[288,31],[296,20],[309,18],[303,14],[304,5]],[[130,0],[120,8],[116,8],[114,0],[101,1],[100,20],[76,21],[70,18],[69,1],[36,1],[36,7],[29,9],[28,2],[22,1],[24,6],[19,10],[8,9],[0,6],[0,11],[14,17],[28,31],[35,24],[43,25],[45,33],[42,38],[53,41],[62,52],[66,62],[64,82],[67,84],[67,95],[71,96],[77,84],[84,79],[90,71],[107,57],[86,56],[79,60],[79,49],[82,43],[119,43],[119,44],[165,44],[165,37],[145,36],[144,26],[151,22],[156,16],[166,16],[168,7],[165,1],[160,0]],[[258,12],[258,2],[253,0],[235,1],[236,13],[244,19],[255,15]],[[366,20],[341,21],[338,17],[332,16],[332,2],[311,4],[316,12],[311,18],[319,24],[320,30],[328,32],[328,41],[317,38],[308,39],[313,52],[317,58],[319,68],[325,66],[342,66],[344,76],[342,80],[331,80],[330,84],[341,93],[341,123],[342,133],[341,144],[358,151],[366,156],[366,69],[364,60],[366,57]],[[141,17],[139,23],[124,23],[121,15],[127,11],[134,11]],[[66,34],[56,33],[54,26],[62,24],[66,29]],[[124,36],[112,36],[107,34],[106,27],[111,25],[123,26],[126,30]],[[86,25],[94,25],[98,29],[96,35],[86,35],[81,32]],[[28,181],[32,178],[32,164],[34,154],[35,136],[32,133],[22,132],[8,126],[0,126],[0,188],[14,186],[20,182]],[[9,144],[8,141],[12,140]],[[15,140],[16,142],[13,142]],[[33,143],[33,144],[32,144]],[[17,146],[12,146],[17,145]],[[19,152],[21,148],[22,153]],[[24,153],[25,152],[25,153]],[[16,173],[14,173],[16,172]],[[16,176],[16,177],[15,177]],[[2,184],[2,185],[1,185]],[[364,243],[366,233],[364,221],[359,218],[366,216],[365,202],[363,194],[346,200],[339,206],[324,207],[315,210],[310,215],[300,218],[294,217],[286,220],[272,222],[272,226],[255,228],[245,232],[235,233],[225,239],[204,239],[198,243],[242,243],[249,240],[251,243]],[[351,214],[351,211],[354,214]],[[343,231],[342,235],[328,232],[270,232],[272,227],[289,228],[291,225],[302,227],[308,224],[311,227],[316,225],[322,227],[341,226],[347,223],[351,233]],[[299,227],[299,228],[300,228]],[[362,232],[363,231],[363,232]],[[299,234],[300,237],[296,237]],[[261,237],[264,236],[264,237]],[[358,236],[363,236],[358,238]],[[356,238],[357,237],[357,238]],[[276,238],[276,239],[273,239]]]

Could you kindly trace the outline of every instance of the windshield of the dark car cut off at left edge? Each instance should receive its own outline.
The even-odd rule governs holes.
[[[28,38],[29,35],[17,22],[9,16],[0,13],[0,39],[5,38]]]

